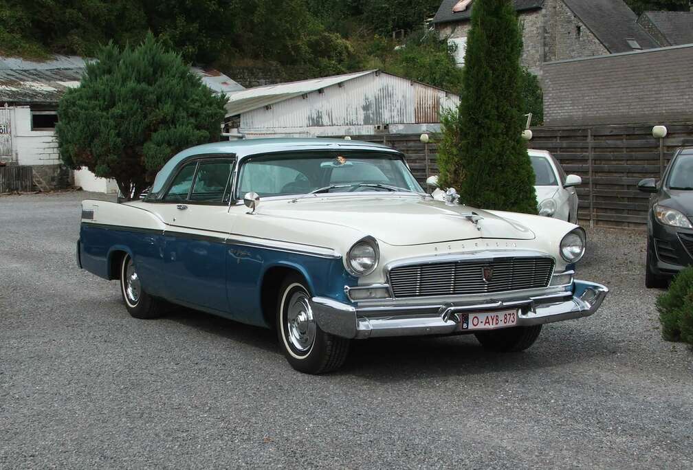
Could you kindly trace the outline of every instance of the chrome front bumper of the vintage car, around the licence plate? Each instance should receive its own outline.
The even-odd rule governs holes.
[[[443,305],[354,307],[330,298],[313,297],[310,306],[319,327],[343,338],[423,336],[464,333],[464,314],[517,311],[518,326],[541,325],[595,314],[608,289],[576,280],[572,292],[521,300],[489,301],[479,305],[451,302]]]

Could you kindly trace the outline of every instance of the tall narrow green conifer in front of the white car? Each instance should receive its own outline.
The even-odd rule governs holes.
[[[536,214],[534,170],[521,138],[522,37],[511,2],[472,10],[459,109],[443,119],[441,185],[470,206]]]

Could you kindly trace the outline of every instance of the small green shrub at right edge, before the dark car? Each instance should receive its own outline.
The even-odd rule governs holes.
[[[693,266],[676,275],[669,290],[657,299],[662,336],[693,348]]]

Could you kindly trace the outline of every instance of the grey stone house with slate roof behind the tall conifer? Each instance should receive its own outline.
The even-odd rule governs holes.
[[[462,64],[471,9],[479,0],[443,0],[433,19],[439,37],[457,45]],[[542,75],[544,62],[656,48],[622,0],[514,0],[523,25],[522,64]]]

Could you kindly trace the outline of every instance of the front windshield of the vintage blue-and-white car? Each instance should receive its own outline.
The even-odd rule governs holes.
[[[369,185],[369,186],[364,186]],[[237,197],[310,192],[423,192],[401,156],[376,152],[291,152],[250,157],[240,167]]]

